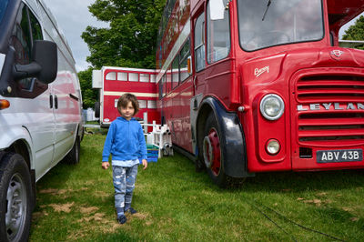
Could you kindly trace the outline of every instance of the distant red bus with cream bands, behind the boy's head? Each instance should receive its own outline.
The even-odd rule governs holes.
[[[101,70],[93,71],[93,88],[100,89],[96,117],[100,118],[101,126],[110,126],[120,116],[117,100],[125,93],[134,94],[139,101],[140,110],[136,119],[147,119],[148,123],[160,122],[157,113],[156,70],[103,66]]]

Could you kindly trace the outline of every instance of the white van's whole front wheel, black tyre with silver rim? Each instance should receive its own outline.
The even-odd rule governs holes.
[[[0,237],[27,241],[31,223],[31,178],[23,156],[8,153],[0,164]]]

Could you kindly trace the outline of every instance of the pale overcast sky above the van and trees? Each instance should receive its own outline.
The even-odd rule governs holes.
[[[43,0],[53,15],[59,27],[66,35],[66,40],[70,45],[76,60],[77,71],[85,70],[88,66],[86,56],[90,55],[88,47],[81,38],[82,32],[87,25],[102,27],[107,26],[105,22],[97,21],[96,17],[88,12],[87,6],[93,4],[95,0]],[[349,22],[353,25],[355,21]],[[348,27],[344,27],[346,29]],[[343,30],[340,35],[343,35]]]

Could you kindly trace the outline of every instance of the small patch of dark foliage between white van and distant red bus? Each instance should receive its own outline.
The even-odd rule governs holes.
[[[92,68],[89,67],[85,71],[78,72],[78,79],[80,81],[83,107],[94,107],[97,100],[97,89],[92,88]]]

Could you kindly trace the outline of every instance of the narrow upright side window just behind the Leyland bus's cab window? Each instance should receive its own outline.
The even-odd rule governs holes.
[[[195,25],[195,68],[205,68],[205,13],[198,16]]]

